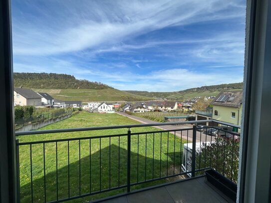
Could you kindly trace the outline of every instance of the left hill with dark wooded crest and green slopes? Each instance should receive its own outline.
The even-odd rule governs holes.
[[[73,75],[56,73],[14,73],[14,87],[30,88],[35,92],[47,92],[63,101],[146,101],[150,97],[139,96],[114,89],[100,82],[77,80]]]

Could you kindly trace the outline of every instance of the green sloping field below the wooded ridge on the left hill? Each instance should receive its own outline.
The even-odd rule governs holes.
[[[33,89],[35,92],[47,92],[54,99],[63,101],[143,101],[150,97],[138,96],[117,89]]]

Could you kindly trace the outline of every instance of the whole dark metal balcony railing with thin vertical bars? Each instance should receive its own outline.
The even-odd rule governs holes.
[[[209,168],[236,182],[238,134],[211,126],[176,126],[202,122],[239,128],[205,120],[16,132],[20,202],[58,203],[88,196],[88,200],[94,200],[165,183],[181,175],[194,177]],[[174,129],[142,130],[150,126]],[[108,135],[115,129],[127,130]],[[219,135],[209,136],[208,131],[215,129],[220,130]],[[50,140],[42,137],[71,132],[87,134]],[[102,135],[91,135],[97,132]],[[19,142],[22,136],[39,140]]]

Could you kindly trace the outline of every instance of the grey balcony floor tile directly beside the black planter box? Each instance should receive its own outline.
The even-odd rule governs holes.
[[[175,203],[221,203],[221,200],[225,201],[222,197],[216,197],[210,193],[197,179],[169,185],[166,186],[166,189]]]

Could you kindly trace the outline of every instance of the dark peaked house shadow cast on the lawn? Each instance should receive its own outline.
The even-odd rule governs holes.
[[[146,154],[147,157],[131,152],[131,183],[165,177],[167,174],[172,175],[169,173],[170,170],[167,169],[173,165],[180,168],[182,163],[180,152],[175,152],[175,154],[165,153],[165,151],[159,149],[155,153],[153,151]],[[168,157],[166,159],[163,158],[163,160],[160,160],[161,155],[167,154]],[[43,154],[40,156],[43,157]],[[127,150],[117,145],[111,144],[101,150],[97,150],[91,156],[88,153],[87,156],[81,157],[81,159],[72,163],[70,162],[69,165],[67,157],[63,156],[62,158],[59,156],[57,159],[58,162],[60,162],[60,159],[64,159],[62,163],[65,163],[65,166],[57,166],[57,172],[55,170],[54,172],[47,173],[45,169],[45,177],[39,176],[39,178],[35,178],[35,174],[44,173],[42,159],[39,167],[32,167],[33,182],[31,184],[30,177],[27,177],[29,182],[21,186],[21,203],[56,201],[57,199],[61,200],[68,197],[94,193],[127,184]],[[56,165],[55,160],[45,159],[46,166],[50,164]],[[165,180],[156,182],[155,184],[142,184],[133,187],[133,189],[163,182]],[[106,194],[94,195],[88,197],[87,200],[99,199],[125,191],[126,189],[121,189]],[[73,200],[72,202],[82,202],[82,199]]]

